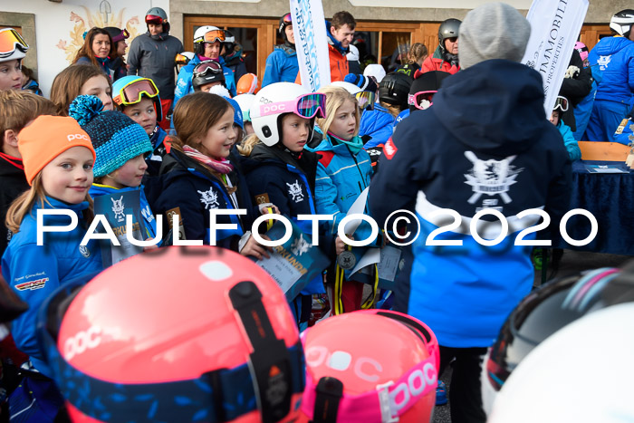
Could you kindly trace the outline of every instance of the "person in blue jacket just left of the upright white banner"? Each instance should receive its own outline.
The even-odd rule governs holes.
[[[275,45],[273,53],[266,58],[262,88],[274,82],[295,82],[300,65],[295,52],[295,35],[291,14],[284,14],[280,18],[277,31],[282,34],[284,43]]]

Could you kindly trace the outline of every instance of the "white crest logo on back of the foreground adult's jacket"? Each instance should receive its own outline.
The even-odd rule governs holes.
[[[499,195],[506,204],[513,201],[507,192],[509,187],[517,182],[517,174],[524,170],[511,166],[511,162],[517,156],[509,156],[502,160],[482,160],[478,159],[473,151],[465,151],[465,157],[474,164],[471,172],[465,175],[466,185],[470,185],[474,190],[474,194],[468,199],[469,204],[476,203],[483,195]]]

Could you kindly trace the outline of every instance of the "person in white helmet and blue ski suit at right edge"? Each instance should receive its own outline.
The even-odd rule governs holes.
[[[615,34],[594,46],[588,59],[599,65],[602,80],[597,87],[586,133],[591,141],[613,141],[614,131],[634,105],[634,9],[612,16]]]

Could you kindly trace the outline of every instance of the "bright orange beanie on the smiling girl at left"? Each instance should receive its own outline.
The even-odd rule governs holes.
[[[77,120],[61,116],[39,116],[18,134],[17,149],[22,155],[24,174],[29,185],[51,160],[72,147],[95,150],[91,138]]]

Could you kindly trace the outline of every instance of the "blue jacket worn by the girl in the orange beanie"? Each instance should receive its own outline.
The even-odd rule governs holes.
[[[15,293],[29,304],[29,309],[12,322],[15,345],[29,355],[35,369],[51,376],[35,334],[39,306],[65,282],[82,274],[100,272],[103,266],[98,241],[80,245],[88,227],[82,215],[88,202],[69,205],[52,197],[46,199],[48,204],[44,203],[42,208],[62,208],[75,213],[78,225],[71,232],[44,233],[43,245],[37,245],[36,210],[40,203],[36,202],[31,212],[24,216],[20,231],[11,238],[2,256],[2,275]],[[44,226],[67,226],[70,223],[69,216],[43,216]]]

